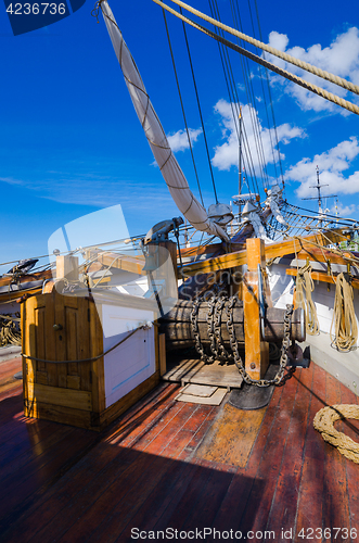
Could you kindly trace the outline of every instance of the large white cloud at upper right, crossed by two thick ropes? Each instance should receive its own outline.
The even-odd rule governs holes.
[[[346,33],[338,35],[329,47],[324,48],[320,43],[316,43],[307,50],[297,46],[286,49],[289,45],[287,36],[277,31],[270,33],[269,45],[283,52],[285,51],[296,59],[359,85],[359,30],[356,27],[349,28]],[[357,101],[355,94],[349,93],[342,87],[321,79],[277,56],[266,53],[266,59],[341,98]],[[343,115],[349,114],[343,108],[338,108],[318,94],[283,79],[281,76],[272,76],[272,81],[283,86],[285,92],[293,96],[304,110],[330,111],[342,113]]]

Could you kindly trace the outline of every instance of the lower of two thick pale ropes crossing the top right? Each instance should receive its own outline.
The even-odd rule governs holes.
[[[348,102],[347,100],[343,100],[342,98],[333,94],[332,92],[328,92],[326,90],[324,90],[324,89],[322,89],[320,87],[317,87],[317,85],[313,85],[313,84],[311,84],[309,81],[306,81],[302,77],[298,77],[298,76],[296,76],[294,74],[291,74],[286,70],[282,70],[282,68],[280,68],[278,66],[275,66],[275,64],[272,64],[272,63],[266,61],[265,59],[261,59],[260,56],[257,56],[256,54],[251,53],[246,49],[243,49],[242,47],[239,47],[235,43],[232,43],[231,41],[228,41],[227,39],[221,38],[220,36],[216,35],[211,30],[208,30],[204,26],[201,26],[198,23],[195,23],[194,21],[192,21],[192,20],[190,20],[188,17],[184,17],[183,15],[181,15],[180,13],[178,13],[177,11],[172,10],[171,8],[169,8],[167,4],[163,3],[161,0],[152,0],[152,1],[154,3],[161,5],[165,10],[167,10],[169,13],[172,13],[176,17],[181,18],[182,21],[184,21],[189,25],[193,26],[197,30],[206,34],[207,36],[210,36],[214,39],[217,39],[217,40],[221,41],[222,43],[225,43],[230,49],[233,49],[234,51],[240,52],[241,54],[247,56],[248,59],[251,59],[251,60],[253,60],[255,62],[257,62],[258,64],[261,64],[262,66],[267,66],[272,72],[275,72],[277,74],[285,77],[286,79],[289,79],[289,80],[291,80],[293,83],[296,83],[300,87],[303,87],[303,88],[305,88],[307,90],[310,90],[315,94],[318,94],[318,96],[320,96],[322,98],[325,98],[330,102],[336,103],[341,108],[344,108],[345,110],[351,111],[352,113],[356,113],[357,115],[359,115],[359,106],[358,105],[356,105],[356,104],[354,104],[351,102]],[[174,2],[175,0],[171,0],[171,1]],[[176,0],[176,2],[178,0]]]

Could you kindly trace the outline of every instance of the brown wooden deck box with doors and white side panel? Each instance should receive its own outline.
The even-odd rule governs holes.
[[[104,320],[125,321],[121,312],[55,290],[22,304],[23,353],[30,357],[23,357],[25,416],[101,430],[158,383],[156,326],[95,361],[74,362],[94,358],[128,336],[124,323],[119,336],[103,332]]]

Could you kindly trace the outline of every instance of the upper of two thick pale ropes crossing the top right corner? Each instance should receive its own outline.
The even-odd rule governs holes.
[[[203,18],[207,23],[211,23],[215,26],[218,26],[219,28],[222,28],[222,30],[228,31],[229,34],[232,34],[233,36],[238,36],[239,38],[242,38],[244,41],[247,41],[248,43],[258,47],[259,49],[267,51],[268,53],[273,54],[274,56],[278,56],[279,59],[282,59],[286,62],[290,62],[291,64],[294,64],[297,67],[300,67],[302,70],[305,70],[306,72],[309,72],[313,75],[317,75],[318,77],[321,77],[322,79],[325,79],[328,81],[334,83],[335,85],[338,85],[339,87],[343,87],[346,90],[350,90],[351,92],[359,94],[359,86],[354,85],[351,81],[347,81],[346,79],[343,79],[343,77],[338,77],[334,74],[330,74],[329,72],[325,72],[324,70],[320,70],[317,66],[312,66],[308,62],[300,61],[299,59],[295,59],[295,56],[292,56],[287,53],[284,53],[283,51],[280,51],[279,49],[275,49],[273,47],[270,47],[266,43],[262,43],[261,41],[251,38],[251,36],[246,36],[243,33],[240,33],[239,30],[235,30],[234,28],[231,28],[228,25],[225,25],[222,23],[219,23],[218,21],[208,17],[208,15],[205,15],[198,10],[195,10],[189,4],[185,4],[181,0],[170,0],[172,3],[176,3],[179,7],[184,8],[184,10],[189,11],[190,13],[193,13],[194,15],[197,15],[200,18]]]

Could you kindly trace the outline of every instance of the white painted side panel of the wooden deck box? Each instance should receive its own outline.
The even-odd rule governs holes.
[[[153,321],[150,311],[102,306],[103,344],[107,351],[145,321]],[[106,407],[120,400],[155,372],[154,327],[138,330],[104,357]]]

